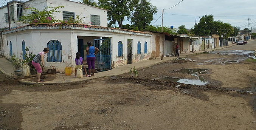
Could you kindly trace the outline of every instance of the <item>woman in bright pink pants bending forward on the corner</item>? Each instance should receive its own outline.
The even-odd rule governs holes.
[[[44,57],[45,57],[45,54],[48,52],[49,52],[49,48],[46,47],[43,49],[43,51],[37,53],[32,60],[32,65],[37,70],[37,82],[43,82],[43,80],[41,79],[42,68],[40,66],[40,63],[42,64],[42,66],[45,66]]]

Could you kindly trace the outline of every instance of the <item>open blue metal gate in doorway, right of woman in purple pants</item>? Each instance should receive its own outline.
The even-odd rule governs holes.
[[[95,68],[111,70],[111,39],[94,39],[94,46],[99,48],[95,56]]]

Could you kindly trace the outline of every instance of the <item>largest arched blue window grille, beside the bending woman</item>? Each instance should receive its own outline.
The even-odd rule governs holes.
[[[61,42],[58,40],[50,40],[47,43],[49,53],[47,53],[47,62],[62,62]]]

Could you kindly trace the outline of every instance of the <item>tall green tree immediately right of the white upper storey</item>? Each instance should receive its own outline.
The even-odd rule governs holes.
[[[101,8],[109,10],[107,12],[108,26],[115,25],[117,22],[119,28],[122,28],[125,17],[128,20],[133,11],[133,1],[131,0],[99,0],[98,4]]]

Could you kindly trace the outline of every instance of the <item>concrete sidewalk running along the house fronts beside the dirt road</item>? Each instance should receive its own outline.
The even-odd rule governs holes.
[[[236,45],[236,44],[233,44],[233,45]],[[188,55],[207,52],[207,51],[219,50],[219,49],[230,47],[230,46],[233,46],[233,45],[222,46],[222,47],[219,47],[219,48],[215,48],[215,49],[211,49],[211,50],[205,50],[205,51],[195,51],[194,53],[192,53],[192,52],[182,53],[182,54],[180,54],[180,58],[186,57]],[[85,80],[95,79],[95,78],[99,78],[99,77],[106,77],[106,76],[116,76],[116,75],[119,75],[119,74],[128,73],[130,71],[130,69],[133,68],[133,67],[136,67],[138,70],[140,70],[140,69],[151,67],[151,66],[163,63],[163,62],[167,62],[169,60],[173,60],[175,58],[176,57],[171,56],[171,57],[163,57],[163,60],[161,60],[161,58],[153,59],[153,60],[144,60],[144,61],[129,64],[129,65],[118,66],[118,67],[115,67],[115,68],[113,68],[112,70],[109,70],[109,71],[95,73],[95,76],[91,76],[91,77],[74,78],[74,74],[72,74],[71,76],[66,76],[65,74],[57,73],[57,74],[44,74],[44,75],[42,75],[42,79],[45,80],[45,82],[38,83],[37,82],[37,77],[29,77],[29,78],[26,78],[26,79],[19,79],[19,82],[22,83],[22,84],[71,84],[71,83],[82,83]],[[7,74],[8,76],[9,75],[13,76],[14,75],[13,69],[12,68],[10,69],[10,65],[11,65],[11,63],[8,63],[8,61],[6,62],[6,60],[4,58],[0,59],[0,70],[3,73]]]

